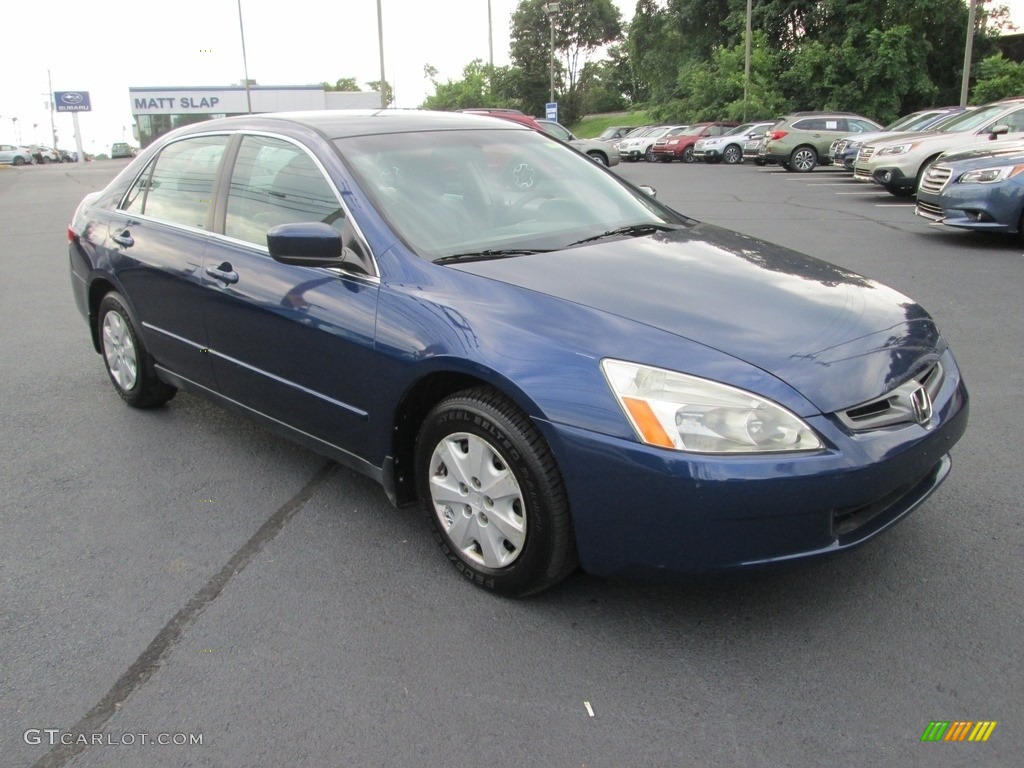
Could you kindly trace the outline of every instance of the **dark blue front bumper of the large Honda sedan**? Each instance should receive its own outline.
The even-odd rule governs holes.
[[[949,376],[929,428],[850,434],[812,421],[831,449],[813,455],[710,457],[540,422],[572,507],[590,573],[660,578],[831,555],[916,508],[945,479],[968,394]]]

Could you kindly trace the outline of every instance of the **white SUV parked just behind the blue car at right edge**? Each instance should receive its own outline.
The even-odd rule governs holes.
[[[1024,132],[1024,98],[996,101],[966,112],[934,131],[904,133],[860,147],[853,166],[857,181],[873,181],[899,198],[916,194],[925,169],[942,153],[985,146],[999,136]],[[994,148],[994,147],[993,147]]]

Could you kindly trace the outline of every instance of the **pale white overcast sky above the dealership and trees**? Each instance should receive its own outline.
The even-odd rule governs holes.
[[[613,0],[624,20],[635,0]],[[381,0],[384,67],[397,106],[433,92],[423,66],[458,80],[487,60],[486,0]],[[492,0],[495,63],[507,65],[518,0]],[[1024,0],[1008,0],[1024,28]],[[57,0],[46,11],[17,5],[22,29],[0,43],[0,141],[50,143],[47,70],[53,90],[89,91],[79,119],[87,152],[106,152],[122,134],[134,143],[128,88],[230,85],[243,78],[238,0]],[[249,77],[261,85],[379,79],[376,0],[242,0]],[[40,22],[54,20],[45,29]],[[539,55],[544,54],[542,51]],[[17,118],[13,123],[10,118]],[[54,116],[59,143],[73,147],[72,118]],[[38,127],[33,128],[33,124]]]

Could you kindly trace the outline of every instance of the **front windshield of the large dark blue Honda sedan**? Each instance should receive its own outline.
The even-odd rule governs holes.
[[[428,131],[415,140],[377,134],[335,143],[395,233],[431,260],[558,250],[624,227],[690,223],[537,131]]]

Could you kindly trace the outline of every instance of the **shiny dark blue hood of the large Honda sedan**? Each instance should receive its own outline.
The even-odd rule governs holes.
[[[893,389],[943,345],[902,294],[710,224],[454,267],[718,349],[824,413]]]

